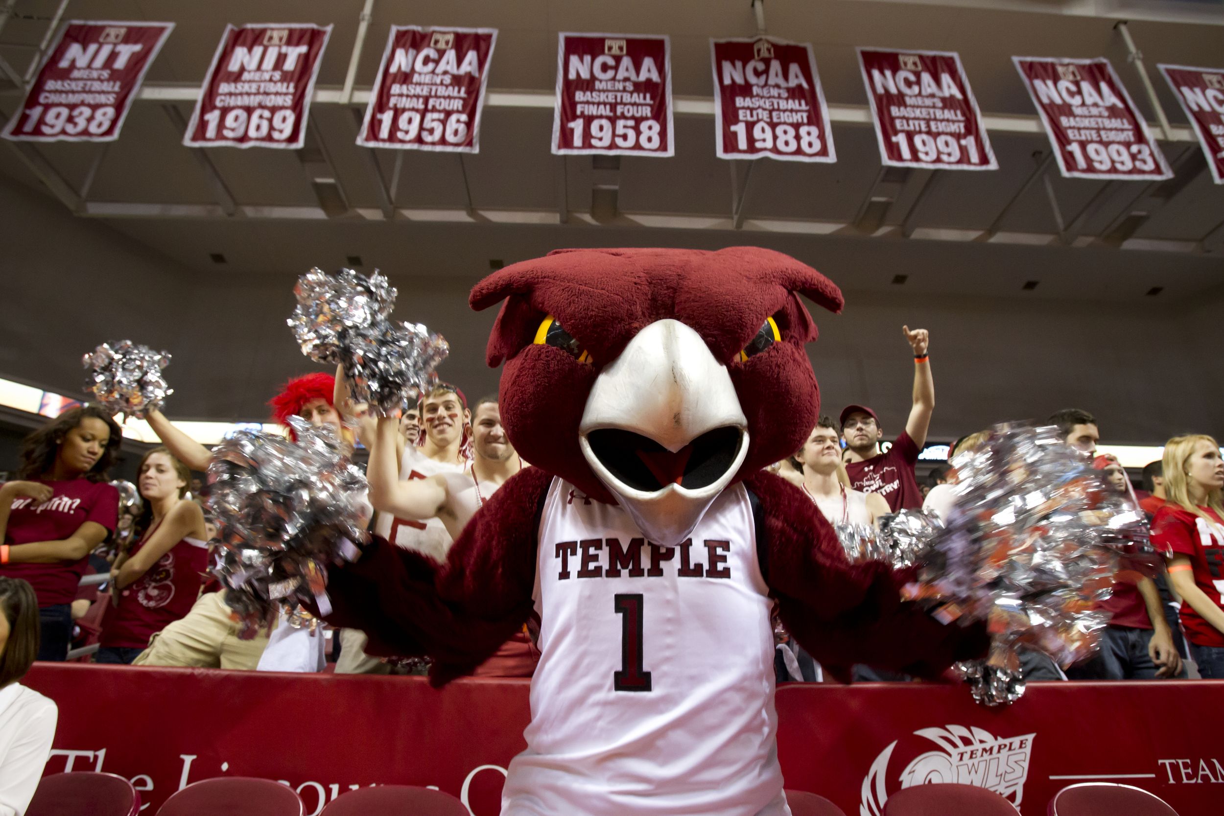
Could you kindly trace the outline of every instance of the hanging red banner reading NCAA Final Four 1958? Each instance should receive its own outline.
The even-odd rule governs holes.
[[[552,152],[674,155],[671,55],[666,35],[562,32]]]

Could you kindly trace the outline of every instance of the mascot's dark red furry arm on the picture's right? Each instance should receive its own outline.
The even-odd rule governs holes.
[[[984,625],[944,625],[901,599],[911,577],[883,562],[851,564],[824,515],[802,491],[772,473],[744,482],[754,497],[765,582],[783,625],[835,678],[849,667],[935,678],[957,661],[985,655]]]

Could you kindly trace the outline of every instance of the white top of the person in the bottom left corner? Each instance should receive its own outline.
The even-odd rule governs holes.
[[[51,755],[55,702],[10,683],[0,689],[0,816],[22,816]]]

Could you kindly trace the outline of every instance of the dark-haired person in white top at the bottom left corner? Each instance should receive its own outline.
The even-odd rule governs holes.
[[[51,754],[55,703],[17,683],[38,655],[38,599],[0,576],[0,816],[21,816]]]

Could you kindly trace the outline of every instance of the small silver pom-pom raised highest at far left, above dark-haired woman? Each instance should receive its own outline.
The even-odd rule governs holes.
[[[169,352],[131,340],[103,343],[84,355],[81,365],[88,372],[86,393],[108,411],[122,412],[125,420],[160,410],[165,398],[174,394],[162,374],[170,365]]]

